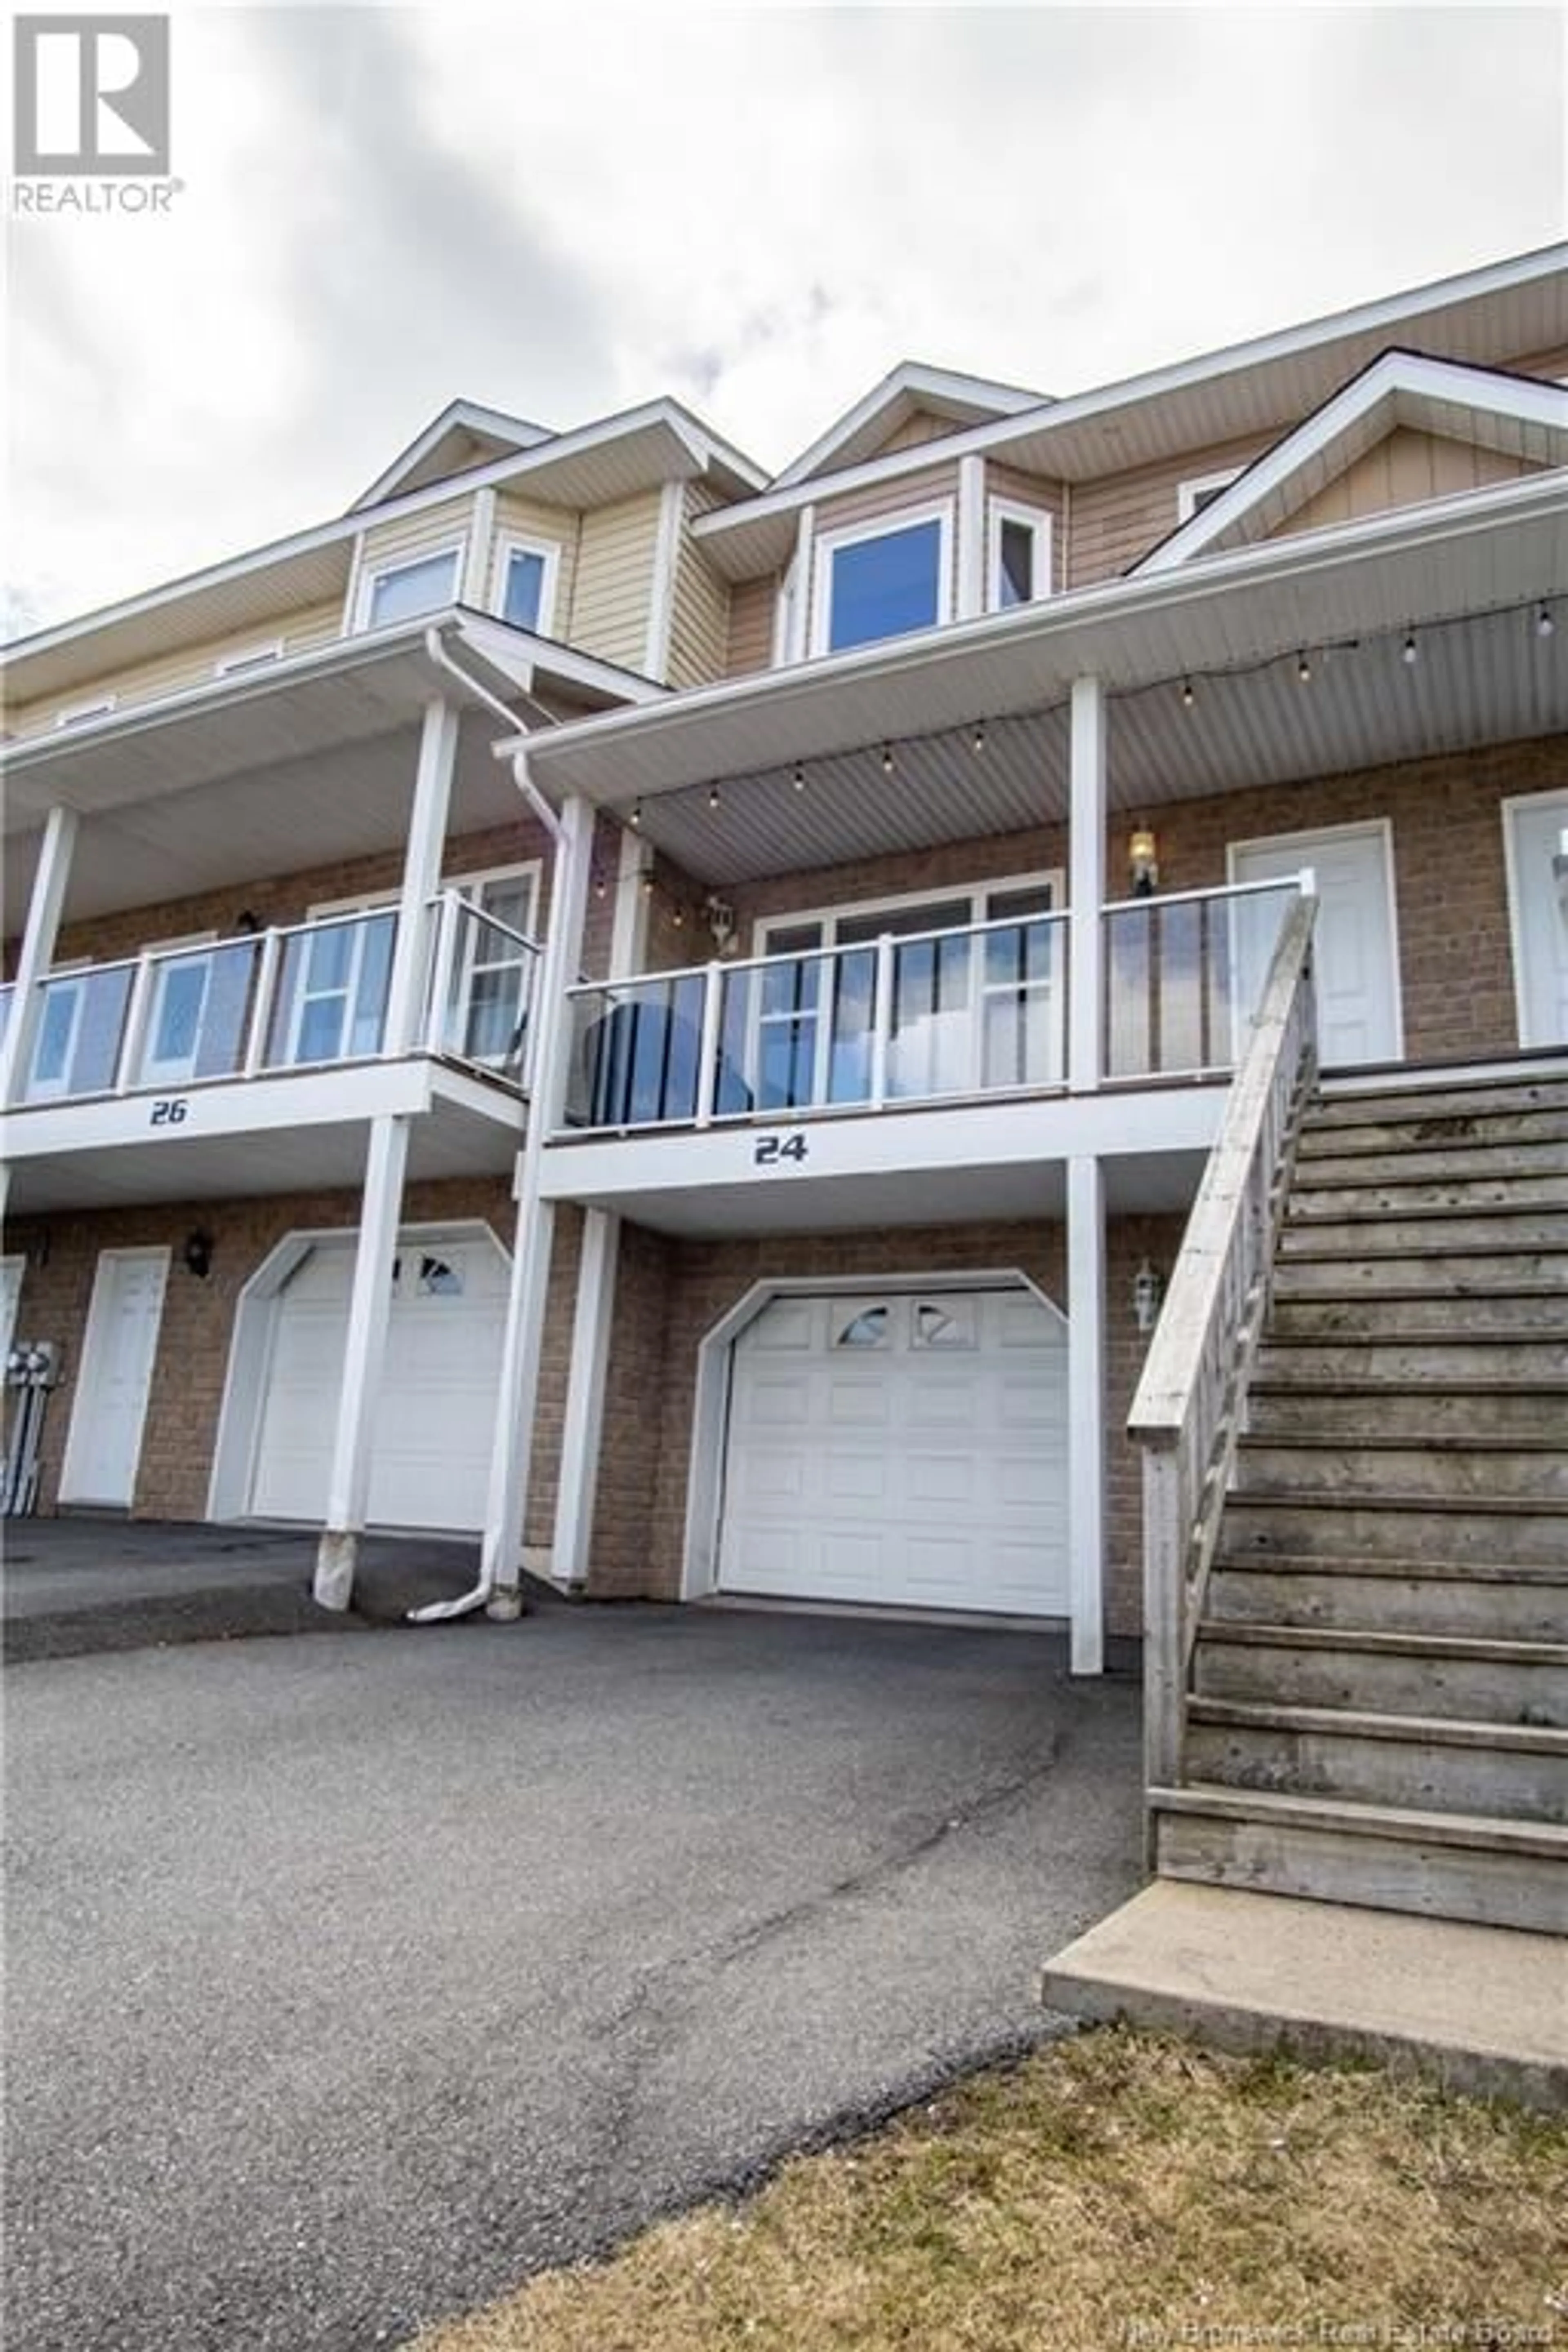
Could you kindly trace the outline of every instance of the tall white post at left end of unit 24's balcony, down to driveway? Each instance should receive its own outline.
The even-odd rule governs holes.
[[[550,1256],[555,1249],[555,1202],[538,1197],[545,1136],[559,1127],[571,1065],[571,1018],[567,988],[576,978],[588,875],[592,868],[592,807],[581,795],[562,809],[562,837],[555,851],[555,889],[550,891],[550,931],[538,974],[538,1061],[529,1129],[517,1167],[517,1237],[512,1244],[512,1287],[505,1305],[501,1345],[501,1381],[496,1399],[496,1435],[489,1463],[489,1501],[484,1505],[484,1555],[480,1581],[491,1585],[489,1616],[515,1618],[522,1609],[520,1569],[522,1531],[534,1475],[534,1418],[538,1409],[538,1359],[545,1336],[550,1296]]]

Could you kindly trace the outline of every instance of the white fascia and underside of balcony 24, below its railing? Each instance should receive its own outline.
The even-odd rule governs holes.
[[[543,1195],[715,1237],[1056,1218],[1065,1162],[1093,1155],[1112,1211],[1180,1214],[1222,1108],[1222,1084],[1159,1087],[562,1138]]]

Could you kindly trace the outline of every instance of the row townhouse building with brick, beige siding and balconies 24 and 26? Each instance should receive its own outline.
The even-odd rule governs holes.
[[[1070,355],[1065,355],[1070,367]],[[1568,249],[766,477],[456,402],[5,656],[35,1505],[1138,1635],[1126,1418],[1326,1073],[1568,1054]]]

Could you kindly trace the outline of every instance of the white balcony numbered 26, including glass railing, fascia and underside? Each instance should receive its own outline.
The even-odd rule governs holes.
[[[541,950],[456,891],[423,929],[402,1037],[388,1025],[395,908],[49,974],[12,1077],[12,1204],[357,1183],[378,1112],[440,1115],[414,1174],[505,1171]]]

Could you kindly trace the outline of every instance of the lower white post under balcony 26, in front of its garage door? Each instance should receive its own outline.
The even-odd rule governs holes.
[[[393,1312],[393,1261],[407,1162],[407,1117],[371,1120],[355,1279],[348,1294],[339,1428],[331,1442],[331,1477],[327,1479],[327,1526],[315,1548],[315,1597],[322,1609],[348,1609],[355,1590],[355,1555],[369,1503],[369,1458],[376,1404],[381,1402],[386,1327]]]

